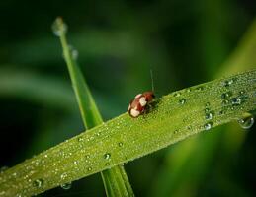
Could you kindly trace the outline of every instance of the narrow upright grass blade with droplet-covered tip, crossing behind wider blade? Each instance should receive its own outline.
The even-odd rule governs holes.
[[[84,125],[87,129],[93,128],[103,122],[96,103],[90,93],[85,79],[73,57],[72,49],[68,46],[65,36],[65,24],[61,18],[57,18],[53,24],[57,31],[63,48],[63,55],[66,61],[76,99],[80,108]],[[121,173],[122,171],[122,173]],[[111,196],[134,196],[128,182],[128,176],[123,165],[115,166],[101,172],[108,197]]]

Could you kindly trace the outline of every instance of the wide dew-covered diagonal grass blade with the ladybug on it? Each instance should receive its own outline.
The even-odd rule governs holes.
[[[237,120],[256,110],[255,89],[252,70],[156,99],[138,118],[122,114],[3,171],[0,196],[36,195]],[[222,99],[226,92],[232,97]],[[206,120],[206,105],[213,113],[211,120]]]

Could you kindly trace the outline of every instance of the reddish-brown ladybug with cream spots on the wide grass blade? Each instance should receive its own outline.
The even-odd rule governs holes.
[[[145,111],[147,104],[154,98],[155,96],[152,91],[136,95],[136,97],[129,102],[128,114],[133,118],[138,117]]]

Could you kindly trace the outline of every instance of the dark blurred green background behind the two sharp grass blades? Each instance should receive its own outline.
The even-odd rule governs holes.
[[[253,0],[0,2],[0,166],[83,131],[60,43],[68,39],[105,120],[137,93],[157,97],[256,68]],[[213,129],[126,164],[136,196],[255,196],[255,126]],[[105,196],[99,174],[40,196]]]

